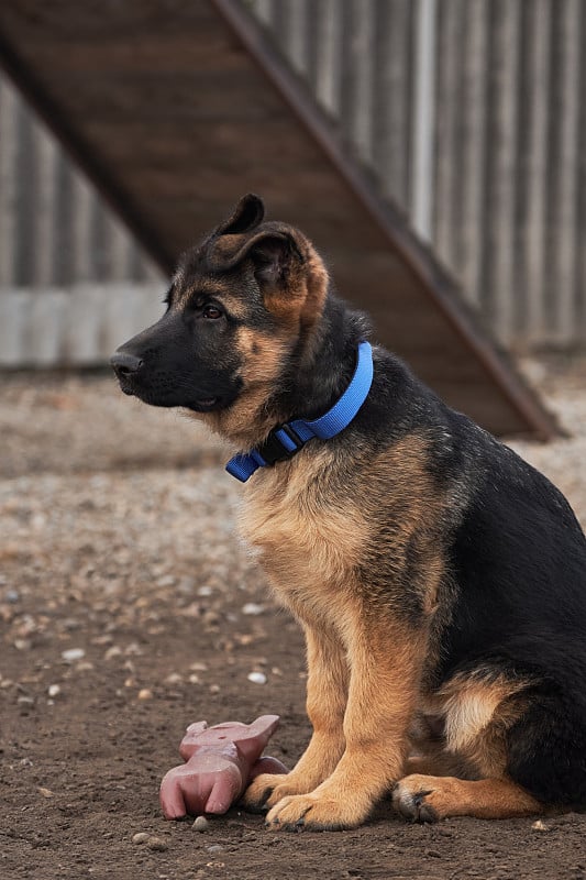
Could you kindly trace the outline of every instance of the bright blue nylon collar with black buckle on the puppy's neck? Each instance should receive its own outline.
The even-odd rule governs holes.
[[[368,342],[358,344],[356,369],[352,381],[338,403],[319,419],[306,421],[294,419],[274,428],[267,440],[250,452],[230,459],[225,470],[241,483],[245,483],[258,468],[292,458],[308,440],[319,437],[330,440],[346,428],[362,407],[373,384],[373,350]]]

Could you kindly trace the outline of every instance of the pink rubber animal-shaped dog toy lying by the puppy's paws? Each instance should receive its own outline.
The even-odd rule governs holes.
[[[278,715],[261,715],[252,724],[190,724],[179,746],[187,763],[174,767],[161,783],[165,818],[225,813],[259,773],[287,773],[276,758],[259,757],[278,723]]]

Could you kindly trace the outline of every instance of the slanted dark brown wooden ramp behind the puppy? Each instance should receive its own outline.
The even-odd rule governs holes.
[[[556,432],[237,0],[2,0],[0,63],[165,271],[258,193],[447,403],[498,435]]]

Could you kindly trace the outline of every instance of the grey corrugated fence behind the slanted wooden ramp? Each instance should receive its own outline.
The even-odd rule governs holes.
[[[584,349],[585,4],[244,6],[494,337],[516,352]],[[0,75],[0,365],[103,363],[158,316],[164,287]]]

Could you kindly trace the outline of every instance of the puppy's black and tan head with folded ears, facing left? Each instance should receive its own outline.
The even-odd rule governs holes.
[[[297,229],[263,221],[247,195],[181,257],[165,315],[111,359],[125,394],[207,414],[230,436],[269,409],[287,360],[310,345],[328,275]]]

